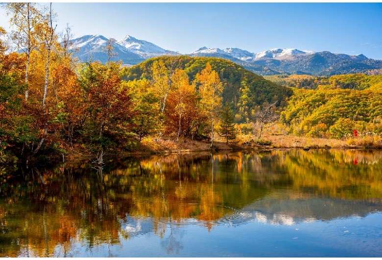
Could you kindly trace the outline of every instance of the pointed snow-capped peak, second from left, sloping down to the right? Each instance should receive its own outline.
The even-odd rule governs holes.
[[[180,55],[179,52],[165,50],[153,43],[144,40],[138,40],[130,35],[126,35],[123,39],[117,41],[117,43],[125,47],[130,52],[134,52],[140,55],[144,59],[161,56],[164,54]]]

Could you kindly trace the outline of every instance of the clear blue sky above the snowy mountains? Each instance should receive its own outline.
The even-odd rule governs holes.
[[[382,59],[382,3],[52,3],[75,37],[129,34],[164,49],[296,48]],[[8,18],[0,10],[0,26]]]

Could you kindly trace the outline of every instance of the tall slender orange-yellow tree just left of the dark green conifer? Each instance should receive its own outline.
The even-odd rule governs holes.
[[[212,70],[210,63],[200,73],[196,74],[196,81],[199,84],[199,93],[201,96],[200,105],[206,113],[209,114],[211,122],[211,148],[214,145],[214,128],[218,110],[221,107],[223,84],[220,82],[219,75]]]

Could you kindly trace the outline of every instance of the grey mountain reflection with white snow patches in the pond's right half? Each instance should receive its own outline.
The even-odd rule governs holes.
[[[381,202],[382,199],[351,201],[337,198],[280,199],[267,196],[240,209],[232,225],[252,220],[272,225],[294,225],[300,222],[365,217],[372,212],[382,211]]]

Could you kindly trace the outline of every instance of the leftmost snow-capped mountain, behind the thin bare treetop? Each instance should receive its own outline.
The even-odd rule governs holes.
[[[102,35],[85,35],[74,39],[71,48],[78,50],[75,55],[80,60],[87,61],[91,59],[106,62],[108,57],[104,50],[107,43],[108,39]],[[113,47],[116,56],[112,57],[111,60],[133,61],[134,64],[144,60],[140,55],[130,52],[119,44],[114,43]]]

